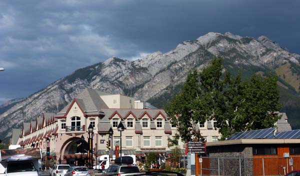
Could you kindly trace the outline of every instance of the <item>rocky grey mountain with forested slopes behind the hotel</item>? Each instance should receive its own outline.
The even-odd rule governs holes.
[[[282,109],[293,121],[292,127],[300,126],[300,81],[293,82],[300,77],[300,55],[281,48],[266,36],[255,39],[229,32],[209,32],[183,41],[166,53],[153,52],[134,61],[108,58],[75,70],[26,98],[5,103],[0,107],[0,138],[7,141],[11,128],[35,119],[42,112],[58,112],[85,87],[132,95],[162,107],[179,91],[187,72],[200,69],[214,55],[221,55],[227,69],[233,73],[240,71],[244,77],[275,71],[280,76],[278,85],[285,103]]]

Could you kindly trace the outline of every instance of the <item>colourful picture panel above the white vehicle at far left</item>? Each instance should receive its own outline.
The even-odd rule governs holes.
[[[39,148],[1,149],[0,161],[41,159]]]

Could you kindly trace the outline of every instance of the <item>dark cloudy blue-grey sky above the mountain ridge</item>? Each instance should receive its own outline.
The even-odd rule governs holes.
[[[300,0],[0,0],[0,104],[111,56],[208,32],[265,35],[300,54]]]

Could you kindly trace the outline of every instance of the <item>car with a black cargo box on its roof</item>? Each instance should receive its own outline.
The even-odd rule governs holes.
[[[116,174],[122,176],[140,172],[138,166],[132,164],[133,159],[131,156],[117,157],[114,163],[107,168],[103,175]]]

